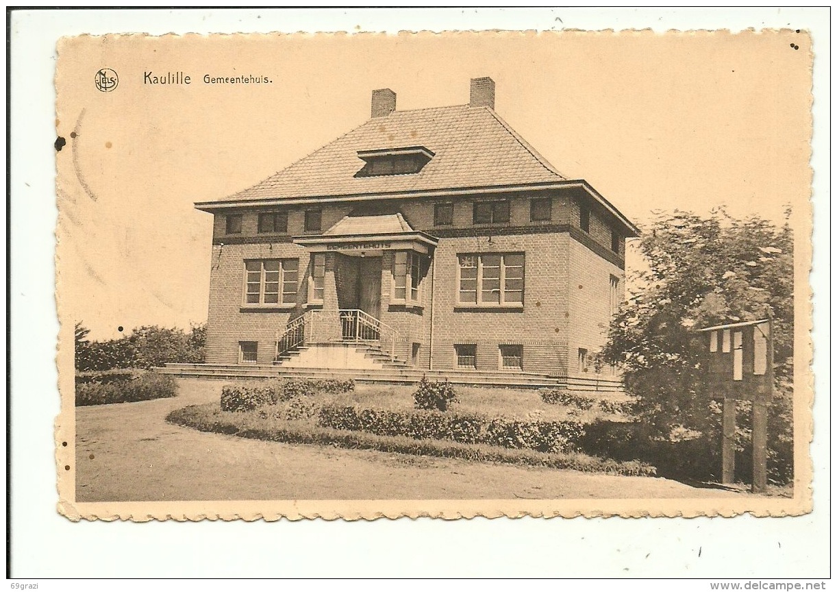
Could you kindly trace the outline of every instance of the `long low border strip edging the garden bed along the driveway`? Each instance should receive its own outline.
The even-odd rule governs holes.
[[[382,436],[321,428],[311,423],[287,421],[275,425],[254,414],[232,414],[219,411],[214,404],[192,405],[168,414],[167,422],[195,430],[237,435],[289,444],[331,445],[354,450],[380,450],[414,456],[437,456],[476,462],[502,462],[517,466],[539,466],[570,469],[610,475],[655,476],[653,466],[643,462],[617,462],[582,453],[549,453],[535,450],[505,450],[488,445],[413,440],[403,436]]]

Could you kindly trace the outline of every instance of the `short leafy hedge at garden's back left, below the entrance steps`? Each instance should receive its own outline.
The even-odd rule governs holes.
[[[355,381],[314,380],[300,378],[266,378],[224,384],[221,389],[221,409],[224,411],[251,411],[264,405],[275,405],[297,397],[313,394],[349,393],[355,389]]]

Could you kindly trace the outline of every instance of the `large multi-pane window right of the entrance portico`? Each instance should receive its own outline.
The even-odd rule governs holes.
[[[523,254],[460,255],[459,303],[523,304]]]

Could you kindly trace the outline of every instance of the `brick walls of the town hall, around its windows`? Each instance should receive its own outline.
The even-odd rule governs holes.
[[[543,193],[532,195],[541,197]],[[422,306],[402,306],[391,302],[393,253],[383,253],[381,320],[402,337],[397,347],[399,358],[409,360],[415,342],[420,345],[420,368],[429,368],[431,353],[434,369],[454,368],[454,343],[475,343],[478,369],[496,370],[499,368],[499,346],[504,343],[521,344],[525,371],[573,375],[578,374],[578,347],[585,347],[589,353],[595,353],[603,345],[609,322],[611,274],[619,277],[619,289],[624,291],[624,271],[601,255],[603,250],[610,250],[610,229],[603,221],[603,214],[594,209],[590,216],[589,238],[585,235],[573,239],[569,232],[554,229],[554,226],[573,225],[576,227],[573,233],[579,233],[578,200],[555,192],[552,194],[552,221],[532,223],[530,198],[530,195],[511,198],[509,224],[478,227],[473,224],[473,200],[454,200],[452,228],[460,229],[460,235],[452,238],[444,237],[442,229],[434,227],[433,201],[403,200],[400,203],[386,203],[389,209],[397,205],[414,229],[443,237],[422,278]],[[351,206],[344,205],[322,208],[322,229],[328,229],[351,210]],[[305,208],[291,209],[288,233],[284,236],[258,234],[256,211],[244,213],[240,235],[224,234],[225,216],[215,216],[208,363],[238,363],[240,341],[258,342],[259,363],[270,363],[274,355],[277,329],[284,329],[290,319],[305,311],[303,305],[307,301],[309,254],[305,248],[290,243],[290,236],[303,234],[304,216]],[[542,224],[551,224],[552,227],[548,232],[538,233],[535,229],[535,232],[528,234],[527,228]],[[509,226],[516,227],[516,234],[503,234],[503,229]],[[450,237],[450,234],[447,236]],[[240,241],[242,244],[235,242],[237,238],[244,238]],[[261,242],[270,239],[275,242]],[[579,243],[581,239],[586,240],[589,246]],[[600,254],[591,250],[596,245],[590,239],[600,247]],[[218,244],[220,242],[227,244],[222,248]],[[620,255],[624,255],[624,239],[620,241],[619,248]],[[455,306],[458,294],[457,255],[485,252],[526,254],[524,306],[521,310],[485,311]],[[603,255],[608,253],[604,252]],[[340,256],[335,253],[326,254],[326,309],[340,305],[338,287],[344,280],[349,280],[341,277],[340,266],[336,265]],[[241,306],[244,260],[282,257],[300,259],[298,303],[281,310],[244,309]],[[583,288],[579,289],[578,286]],[[429,333],[431,317],[434,324],[432,347]]]

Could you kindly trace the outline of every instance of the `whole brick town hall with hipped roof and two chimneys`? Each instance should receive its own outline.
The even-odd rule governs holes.
[[[477,78],[468,105],[397,111],[374,90],[362,126],[196,203],[214,218],[204,371],[618,379],[590,358],[638,231],[512,130],[494,95]]]

